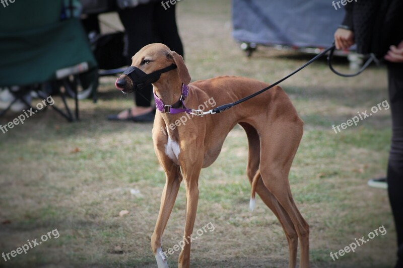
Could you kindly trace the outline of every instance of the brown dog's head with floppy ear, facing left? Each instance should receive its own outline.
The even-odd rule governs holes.
[[[154,73],[166,67],[169,68],[169,66],[172,64],[176,66],[176,69],[172,71],[162,73],[161,76],[157,75],[156,77],[158,78],[154,82],[157,82],[163,78],[166,79],[170,75],[174,75],[176,78],[179,77],[184,84],[188,84],[190,82],[190,75],[182,56],[174,51],[171,51],[164,44],[157,43],[147,45],[137,52],[136,55],[131,58],[131,60],[131,66],[129,68],[130,71],[136,72],[136,75],[139,74],[140,76],[142,74],[145,75]],[[125,73],[128,71],[125,71]],[[138,84],[136,84],[136,81],[133,81],[128,74],[120,75],[120,77],[116,80],[115,85],[118,90],[121,90],[124,93],[132,93],[139,87]]]

